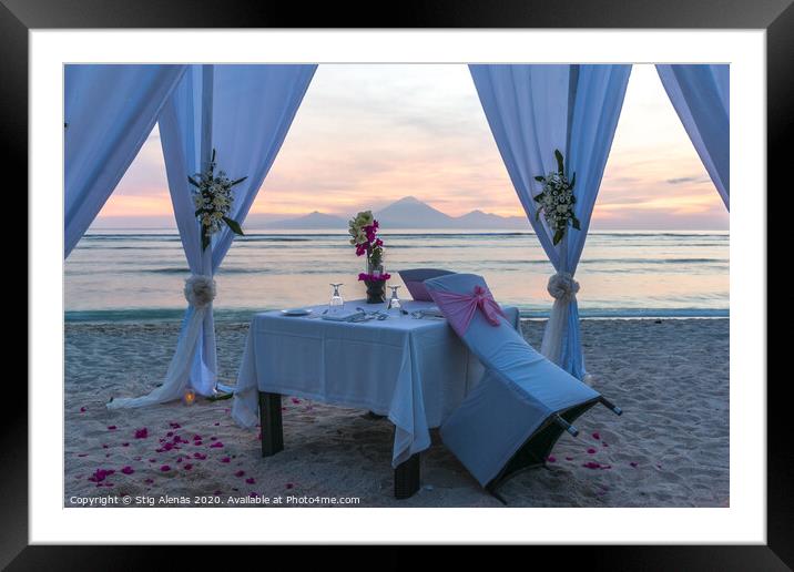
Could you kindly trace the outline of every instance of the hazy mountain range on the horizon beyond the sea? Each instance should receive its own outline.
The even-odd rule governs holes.
[[[529,229],[522,216],[499,216],[482,211],[471,211],[462,216],[449,216],[414,196],[405,196],[380,210],[375,217],[384,229],[391,228],[471,228],[471,229]],[[251,217],[248,217],[251,218]],[[258,221],[257,221],[258,222]],[[246,222],[252,227],[251,222]],[[263,228],[278,229],[346,229],[347,219],[317,211],[296,218],[261,221]]]

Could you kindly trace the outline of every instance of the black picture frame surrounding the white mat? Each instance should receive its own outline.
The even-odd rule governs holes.
[[[609,28],[764,29],[767,80],[767,186],[791,187],[785,142],[794,135],[793,0],[475,0],[373,3],[190,0],[0,0],[0,137],[7,170],[27,186],[28,32],[69,28]],[[8,191],[8,190],[7,190]],[[742,382],[762,384],[763,379]],[[777,379],[767,386],[767,543],[712,547],[566,547],[568,564],[632,570],[787,570],[794,568],[794,482],[787,401]],[[0,457],[0,565],[10,570],[136,570],[154,558],[146,547],[28,547],[28,404],[14,394],[3,408]],[[788,413],[790,415],[790,413]],[[741,462],[734,459],[734,462]],[[273,549],[269,549],[273,550]],[[538,549],[544,550],[544,549]],[[551,549],[550,549],[551,550]],[[593,554],[597,552],[597,554]],[[275,552],[274,552],[275,553]],[[314,556],[302,553],[302,563]],[[157,555],[157,568],[186,565],[206,551]],[[238,556],[235,556],[238,558]],[[596,559],[596,560],[593,560]],[[397,559],[399,560],[399,559]],[[273,562],[273,561],[271,561]],[[394,558],[386,562],[394,564]],[[120,564],[120,563],[123,563]]]

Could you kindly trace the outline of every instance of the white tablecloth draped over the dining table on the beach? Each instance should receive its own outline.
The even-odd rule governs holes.
[[[432,306],[404,300],[408,311]],[[385,305],[347,302],[367,310]],[[445,319],[339,323],[281,311],[256,314],[237,376],[232,415],[245,426],[258,422],[258,391],[297,396],[369,409],[395,425],[394,467],[430,446],[439,427],[479,381],[482,366]],[[503,308],[518,328],[518,309]]]

